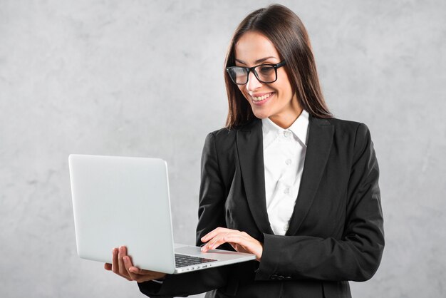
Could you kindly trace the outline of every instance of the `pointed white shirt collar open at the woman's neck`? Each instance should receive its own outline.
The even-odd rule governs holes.
[[[290,130],[294,136],[299,139],[299,141],[306,146],[306,135],[308,133],[308,123],[309,123],[308,112],[302,110],[301,115],[294,121],[293,124],[287,129],[281,128],[276,125],[269,118],[261,119],[261,129],[264,138],[264,148],[268,147],[278,136],[285,130]]]

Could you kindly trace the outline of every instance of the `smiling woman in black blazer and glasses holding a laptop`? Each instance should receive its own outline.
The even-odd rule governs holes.
[[[226,66],[227,127],[204,143],[197,245],[256,261],[166,275],[120,247],[105,269],[150,297],[351,297],[348,280],[370,279],[384,247],[368,128],[328,111],[306,29],[284,6],[242,21]]]

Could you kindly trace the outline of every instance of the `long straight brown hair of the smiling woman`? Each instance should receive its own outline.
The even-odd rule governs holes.
[[[310,39],[301,19],[293,11],[279,4],[252,12],[239,24],[232,37],[224,63],[225,68],[235,65],[235,45],[247,31],[263,34],[276,46],[281,59],[286,61],[285,71],[301,107],[315,117],[332,118],[333,115],[328,111],[323,99]],[[248,101],[232,83],[226,71],[224,81],[229,102],[227,127],[232,128],[255,118]]]

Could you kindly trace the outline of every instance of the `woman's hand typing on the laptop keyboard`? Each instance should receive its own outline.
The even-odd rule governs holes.
[[[202,242],[207,242],[202,247],[202,252],[214,250],[223,243],[229,243],[237,252],[248,252],[256,255],[256,260],[260,262],[261,254],[264,250],[261,242],[249,236],[246,232],[231,230],[225,227],[217,227],[217,229],[207,233],[202,237]]]

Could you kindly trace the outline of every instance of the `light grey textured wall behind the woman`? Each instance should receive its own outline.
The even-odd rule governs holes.
[[[369,126],[380,162],[387,246],[353,295],[442,297],[446,2],[279,2],[306,24],[328,105]],[[76,256],[69,153],[165,158],[176,240],[194,242],[224,53],[269,3],[0,0],[0,297],[141,297]]]

